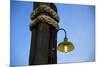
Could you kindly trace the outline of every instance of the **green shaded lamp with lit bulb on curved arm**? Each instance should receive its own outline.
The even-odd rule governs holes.
[[[64,37],[64,41],[58,44],[57,47],[58,51],[65,52],[65,53],[73,51],[75,47],[72,42],[68,41],[66,30],[63,28],[58,29],[58,31],[60,30],[64,31],[65,37]]]

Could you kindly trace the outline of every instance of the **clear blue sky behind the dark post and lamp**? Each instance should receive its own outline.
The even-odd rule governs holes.
[[[11,2],[11,65],[28,65],[31,43],[29,30],[32,2]],[[75,49],[69,53],[57,51],[57,63],[95,61],[95,7],[90,5],[56,4],[59,26],[67,31],[68,40]],[[64,32],[57,34],[57,43]]]

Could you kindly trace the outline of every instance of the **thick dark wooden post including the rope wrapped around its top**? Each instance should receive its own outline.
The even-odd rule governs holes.
[[[32,32],[29,65],[57,63],[59,17],[53,3],[35,2],[31,14]]]

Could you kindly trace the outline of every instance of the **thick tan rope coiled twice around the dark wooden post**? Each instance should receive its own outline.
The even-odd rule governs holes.
[[[45,15],[41,15],[45,13]],[[49,6],[47,5],[40,5],[38,6],[31,14],[31,20],[30,23],[30,30],[33,29],[34,26],[37,26],[40,22],[45,22],[51,26],[53,26],[55,29],[59,29],[59,16],[58,14]]]

